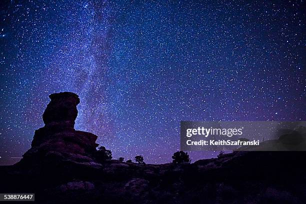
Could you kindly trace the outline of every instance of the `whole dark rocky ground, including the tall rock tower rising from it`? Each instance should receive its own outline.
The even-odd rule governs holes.
[[[20,162],[0,166],[1,192],[37,203],[306,203],[305,151],[234,151],[194,163],[94,159],[96,135],[74,129],[79,98],[54,93]]]

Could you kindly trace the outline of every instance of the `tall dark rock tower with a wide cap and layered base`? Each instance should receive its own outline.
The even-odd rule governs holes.
[[[51,101],[42,115],[45,125],[35,130],[31,148],[23,154],[20,163],[94,162],[97,136],[74,129],[78,95],[60,92],[50,94],[49,98]]]

